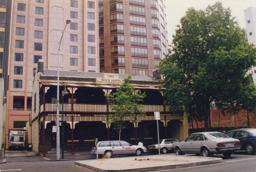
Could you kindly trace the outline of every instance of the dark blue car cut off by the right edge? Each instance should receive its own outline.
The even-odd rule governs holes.
[[[226,134],[241,142],[241,150],[248,154],[256,154],[256,128],[234,129]]]

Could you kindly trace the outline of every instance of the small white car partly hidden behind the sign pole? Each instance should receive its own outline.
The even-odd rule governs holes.
[[[173,143],[179,142],[175,138],[168,138],[168,139],[163,139],[159,141],[159,147],[161,149],[162,153],[167,153],[168,151],[173,151]],[[158,151],[158,141],[155,144],[149,145],[148,146],[148,151],[154,152]]]

